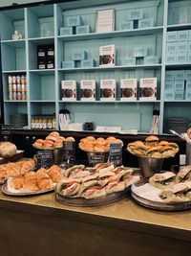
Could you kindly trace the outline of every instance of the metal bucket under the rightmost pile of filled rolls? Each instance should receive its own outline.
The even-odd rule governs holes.
[[[150,177],[161,171],[164,158],[138,156],[140,174],[143,177]]]

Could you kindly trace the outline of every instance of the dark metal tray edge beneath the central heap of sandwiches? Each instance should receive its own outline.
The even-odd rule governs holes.
[[[125,198],[129,191],[130,191],[130,188],[126,188],[123,191],[112,193],[103,198],[90,198],[90,199],[80,198],[80,197],[79,198],[64,197],[61,194],[56,192],[55,200],[70,206],[100,206],[100,205],[112,203],[122,198]]]

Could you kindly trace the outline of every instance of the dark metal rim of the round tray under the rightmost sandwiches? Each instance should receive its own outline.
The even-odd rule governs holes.
[[[135,186],[141,186],[148,183],[148,178],[140,179]],[[159,211],[168,211],[168,212],[175,212],[175,211],[184,211],[191,209],[191,201],[182,201],[182,202],[159,202],[154,200],[149,200],[146,198],[141,198],[138,196],[134,191],[131,189],[131,196],[132,198],[140,205],[154,210]]]

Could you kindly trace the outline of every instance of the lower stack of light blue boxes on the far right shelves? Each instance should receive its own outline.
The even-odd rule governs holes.
[[[166,71],[164,100],[191,100],[191,70]]]

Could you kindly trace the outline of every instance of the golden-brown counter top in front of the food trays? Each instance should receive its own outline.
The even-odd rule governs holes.
[[[115,203],[97,207],[73,207],[58,203],[54,193],[34,197],[10,197],[0,192],[0,208],[85,221],[191,242],[191,211],[160,212],[146,209],[130,194]]]

